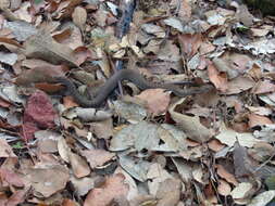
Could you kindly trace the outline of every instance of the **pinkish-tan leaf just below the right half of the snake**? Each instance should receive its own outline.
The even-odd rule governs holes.
[[[136,96],[146,102],[150,114],[160,115],[167,111],[170,94],[163,89],[147,89]]]

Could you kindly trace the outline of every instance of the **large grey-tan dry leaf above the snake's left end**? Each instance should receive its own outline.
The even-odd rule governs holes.
[[[61,44],[45,30],[40,30],[37,35],[32,36],[24,42],[26,48],[25,54],[28,57],[37,57],[48,61],[52,64],[66,63],[68,66],[77,65],[77,60],[74,56],[74,52],[65,44]]]

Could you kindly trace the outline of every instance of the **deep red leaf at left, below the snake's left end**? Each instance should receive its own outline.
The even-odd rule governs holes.
[[[34,138],[34,132],[39,129],[54,127],[54,117],[51,100],[42,92],[35,92],[27,102],[27,106],[23,117],[23,137],[25,140]]]

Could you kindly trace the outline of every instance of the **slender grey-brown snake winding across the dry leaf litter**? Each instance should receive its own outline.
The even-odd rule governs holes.
[[[65,86],[68,93],[74,100],[84,107],[100,107],[102,103],[108,99],[109,94],[117,87],[120,81],[128,80],[135,83],[140,90],[161,88],[173,92],[177,96],[187,96],[197,93],[204,93],[213,89],[212,85],[205,85],[197,89],[184,90],[177,87],[175,83],[154,83],[148,81],[143,76],[134,69],[121,69],[112,75],[105,83],[99,89],[97,95],[90,100],[80,94],[75,85],[66,77],[54,77],[54,82]]]

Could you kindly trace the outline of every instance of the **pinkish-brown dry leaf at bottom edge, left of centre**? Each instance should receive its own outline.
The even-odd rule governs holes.
[[[108,206],[115,198],[126,197],[128,185],[124,183],[124,179],[122,173],[107,178],[100,188],[95,188],[89,192],[84,206]]]

